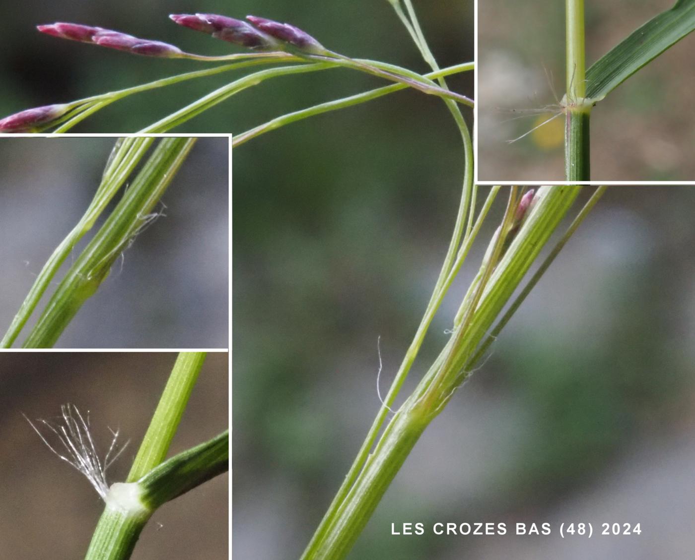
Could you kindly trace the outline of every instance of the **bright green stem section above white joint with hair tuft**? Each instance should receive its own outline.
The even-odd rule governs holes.
[[[140,479],[163,461],[205,356],[206,352],[179,352],[126,482]]]

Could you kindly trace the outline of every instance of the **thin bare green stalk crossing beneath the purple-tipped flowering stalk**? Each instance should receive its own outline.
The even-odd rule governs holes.
[[[441,76],[449,76],[450,74],[458,74],[459,72],[467,72],[475,67],[474,63],[462,63],[455,66],[450,66],[443,68],[438,72],[430,72],[430,74],[425,74],[425,78],[439,78]],[[243,143],[256,138],[266,132],[274,131],[286,124],[291,124],[309,117],[320,115],[322,113],[328,113],[329,111],[342,109],[345,107],[350,107],[353,105],[358,105],[365,103],[366,101],[372,101],[378,97],[397,92],[406,89],[408,86],[404,83],[395,83],[393,85],[385,85],[382,88],[377,88],[375,90],[369,90],[367,92],[358,93],[350,95],[350,97],[343,97],[342,99],[335,99],[334,101],[327,101],[313,107],[295,111],[294,113],[287,113],[286,115],[281,115],[273,120],[259,124],[259,126],[254,126],[253,129],[247,130],[245,132],[235,134],[231,139],[232,147],[237,147]]]

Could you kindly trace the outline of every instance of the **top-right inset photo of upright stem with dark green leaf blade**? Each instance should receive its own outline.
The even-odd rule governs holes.
[[[691,181],[692,1],[478,3],[477,180]]]

